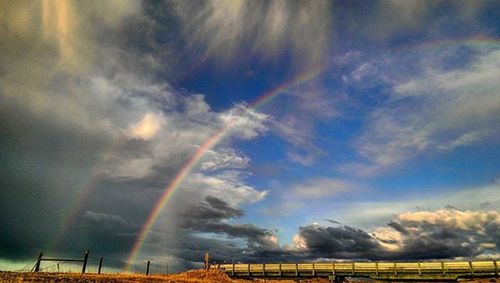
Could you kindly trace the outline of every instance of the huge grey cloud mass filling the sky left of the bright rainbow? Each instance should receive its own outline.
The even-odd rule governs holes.
[[[158,43],[148,31],[155,23],[144,8],[138,1],[0,4],[0,163],[6,168],[0,223],[9,231],[0,236],[2,257],[91,248],[124,260],[164,188],[208,137],[235,123],[222,142],[234,153],[230,140],[266,131],[267,116],[246,105],[216,112],[203,95],[158,79],[158,62],[168,56],[155,53]],[[219,170],[184,186],[238,203],[265,196],[243,178]],[[204,197],[186,195],[192,202]],[[146,250],[173,250],[177,231],[168,218]]]

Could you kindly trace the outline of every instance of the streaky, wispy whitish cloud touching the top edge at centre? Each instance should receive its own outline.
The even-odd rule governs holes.
[[[286,48],[303,67],[320,63],[328,50],[328,1],[179,1],[177,6],[190,46],[204,46],[205,55],[232,59],[259,52],[272,58]]]

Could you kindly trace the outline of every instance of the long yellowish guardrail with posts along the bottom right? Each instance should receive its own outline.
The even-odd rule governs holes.
[[[498,277],[499,263],[483,261],[427,262],[314,262],[218,264],[232,277],[369,277],[384,280],[457,280],[470,277]]]

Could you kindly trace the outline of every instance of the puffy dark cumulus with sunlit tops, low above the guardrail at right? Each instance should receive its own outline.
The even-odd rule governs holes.
[[[439,209],[402,213],[372,232],[312,224],[300,227],[294,248],[311,258],[475,257],[498,252],[499,219],[497,211]]]

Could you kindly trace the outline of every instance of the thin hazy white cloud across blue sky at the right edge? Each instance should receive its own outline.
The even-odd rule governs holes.
[[[499,61],[500,51],[483,52],[466,68],[431,69],[396,85],[391,100],[371,113],[355,142],[367,162],[339,169],[373,174],[422,153],[439,154],[497,136]]]

